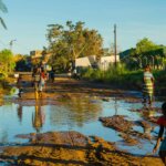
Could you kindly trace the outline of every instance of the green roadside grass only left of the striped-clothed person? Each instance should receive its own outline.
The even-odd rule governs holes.
[[[142,87],[143,82],[143,71],[129,71],[123,63],[118,63],[116,68],[115,65],[110,65],[106,71],[86,69],[82,76],[90,81],[100,81],[123,87]]]

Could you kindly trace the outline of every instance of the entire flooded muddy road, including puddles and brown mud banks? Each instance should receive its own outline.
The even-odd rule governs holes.
[[[24,75],[21,98],[13,91],[0,106],[2,165],[162,164],[151,155],[162,101],[147,108],[138,92],[70,79],[48,83],[37,100],[30,81]]]

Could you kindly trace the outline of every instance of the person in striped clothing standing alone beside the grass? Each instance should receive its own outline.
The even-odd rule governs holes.
[[[146,65],[144,70],[143,103],[146,104],[146,102],[148,101],[148,104],[152,105],[153,97],[154,97],[154,76],[151,72],[149,65]]]

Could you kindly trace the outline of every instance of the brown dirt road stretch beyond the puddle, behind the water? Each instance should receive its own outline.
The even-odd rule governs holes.
[[[23,74],[22,76],[23,93],[20,100],[35,100],[34,89],[31,85],[31,74]],[[77,81],[70,77],[55,77],[54,83],[46,82],[43,90],[43,96],[40,100],[55,101],[58,97],[65,97],[66,94],[91,94],[103,97],[126,97],[126,100],[138,100],[136,95],[129,92],[115,89],[112,85],[104,83],[94,83],[89,81]]]

